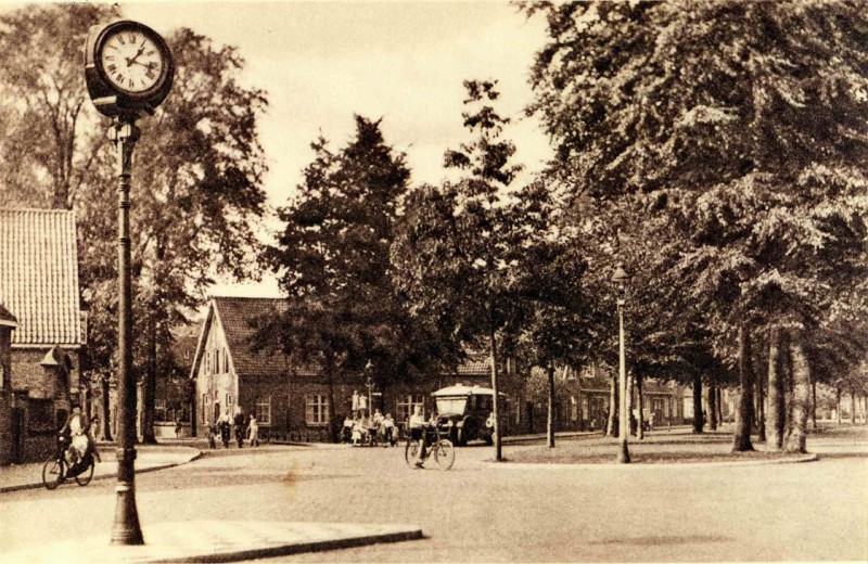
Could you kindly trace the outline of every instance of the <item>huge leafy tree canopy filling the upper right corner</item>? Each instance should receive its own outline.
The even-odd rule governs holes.
[[[616,210],[638,197],[666,218],[644,240],[678,249],[667,269],[749,389],[750,363],[732,352],[750,350],[745,324],[776,323],[799,342],[865,275],[864,10],[818,1],[525,8],[549,23],[531,111],[554,139],[553,168]],[[789,350],[808,377],[808,357]],[[743,438],[737,450],[750,446]]]

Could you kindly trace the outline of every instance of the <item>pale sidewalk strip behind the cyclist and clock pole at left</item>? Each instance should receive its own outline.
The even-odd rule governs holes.
[[[97,448],[102,457],[102,462],[97,463],[93,479],[117,477],[115,445],[103,443]],[[136,447],[136,473],[141,474],[186,464],[201,456],[201,450],[187,446],[138,445]],[[43,487],[42,464],[43,462],[35,462],[0,467],[0,493]]]

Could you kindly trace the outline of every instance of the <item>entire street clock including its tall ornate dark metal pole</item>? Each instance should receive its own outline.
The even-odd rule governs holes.
[[[130,280],[129,187],[136,120],[152,115],[166,99],[175,76],[166,41],[153,29],[129,21],[93,26],[85,49],[85,79],[97,110],[113,118],[110,137],[117,146],[117,502],[112,544],[142,544],[136,508],[136,381],[132,374],[132,283]]]

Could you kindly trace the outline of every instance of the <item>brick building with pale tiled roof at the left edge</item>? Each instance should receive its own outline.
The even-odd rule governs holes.
[[[72,400],[84,402],[78,356],[79,307],[75,214],[0,209],[0,303],[17,321],[9,338],[8,462],[41,460],[55,445]]]

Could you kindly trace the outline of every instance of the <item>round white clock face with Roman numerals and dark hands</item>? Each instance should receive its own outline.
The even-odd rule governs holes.
[[[108,81],[127,92],[150,90],[163,76],[163,52],[141,29],[112,31],[102,43],[99,57]]]

